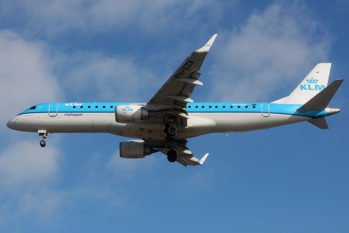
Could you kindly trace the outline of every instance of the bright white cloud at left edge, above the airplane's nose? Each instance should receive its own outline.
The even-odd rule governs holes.
[[[44,43],[27,42],[12,31],[0,31],[0,129],[34,104],[64,98],[50,72]],[[58,95],[60,93],[60,95]]]

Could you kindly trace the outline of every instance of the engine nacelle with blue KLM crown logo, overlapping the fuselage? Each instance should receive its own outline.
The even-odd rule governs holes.
[[[135,123],[157,115],[141,105],[124,104],[115,107],[115,121],[118,123]]]

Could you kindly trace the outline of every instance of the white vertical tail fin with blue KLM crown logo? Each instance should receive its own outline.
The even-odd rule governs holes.
[[[299,83],[287,97],[272,103],[304,104],[327,87],[331,63],[320,63]]]

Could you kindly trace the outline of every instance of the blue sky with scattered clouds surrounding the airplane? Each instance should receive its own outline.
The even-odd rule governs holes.
[[[203,166],[119,157],[112,134],[6,128],[46,102],[147,102],[218,33],[195,102],[272,102],[318,63],[347,78],[349,3],[0,1],[1,232],[348,232],[348,84],[303,122],[188,141]]]

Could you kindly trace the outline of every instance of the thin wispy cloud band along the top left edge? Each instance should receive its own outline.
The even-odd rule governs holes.
[[[4,0],[0,9],[4,22],[24,24],[23,30],[27,30],[28,34],[54,37],[76,29],[92,33],[129,27],[150,33],[158,33],[164,28],[193,29],[192,25],[203,14],[210,17],[206,27],[219,20],[222,11],[231,4],[231,1],[213,0]]]

